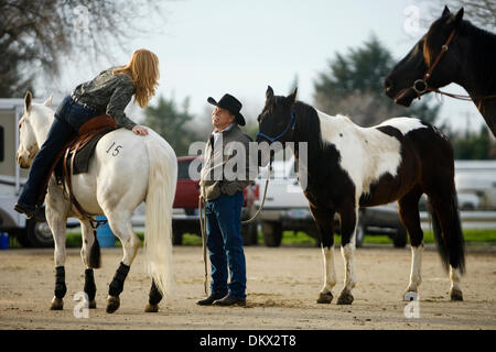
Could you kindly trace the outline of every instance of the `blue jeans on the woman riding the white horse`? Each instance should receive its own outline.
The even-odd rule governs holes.
[[[43,182],[47,177],[50,167],[58,152],[77,133],[79,127],[97,113],[65,97],[55,112],[55,119],[50,128],[46,141],[41,146],[31,165],[28,182],[22,188],[19,201],[28,206],[35,206],[36,198],[42,191]]]

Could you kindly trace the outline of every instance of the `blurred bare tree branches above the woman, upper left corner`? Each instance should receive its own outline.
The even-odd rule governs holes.
[[[0,96],[22,94],[19,90],[25,89],[26,79],[40,69],[57,75],[61,58],[74,51],[91,59],[125,51],[131,35],[155,31],[153,24],[162,18],[157,3],[0,0],[0,52],[8,57],[0,61]]]

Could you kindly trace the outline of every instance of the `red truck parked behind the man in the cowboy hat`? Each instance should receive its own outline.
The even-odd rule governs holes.
[[[198,160],[200,158],[200,160]],[[190,177],[190,165],[193,161],[201,162],[203,156],[177,157],[177,186],[174,198],[174,216],[172,219],[173,243],[182,244],[184,233],[202,235],[200,230],[198,197],[200,179]],[[197,163],[198,167],[201,163]],[[197,170],[200,175],[200,169]],[[252,184],[244,190],[245,204],[241,220],[250,219],[255,212],[255,201],[259,197],[258,184]],[[241,226],[241,235],[245,245],[257,244],[258,221]]]

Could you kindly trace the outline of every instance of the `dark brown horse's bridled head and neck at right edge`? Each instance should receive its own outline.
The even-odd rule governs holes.
[[[463,8],[452,14],[445,7],[441,18],[392,68],[385,80],[386,95],[408,107],[414,98],[455,82],[465,88],[496,135],[495,63],[496,35],[463,20]]]

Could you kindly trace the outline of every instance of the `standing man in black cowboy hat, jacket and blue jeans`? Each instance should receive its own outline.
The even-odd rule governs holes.
[[[249,142],[238,125],[245,125],[239,112],[241,102],[230,95],[224,95],[212,113],[214,132],[205,147],[205,162],[201,172],[201,197],[205,201],[207,248],[212,265],[211,295],[197,301],[201,306],[244,306],[246,304],[246,262],[241,238],[242,189],[250,182]],[[230,146],[235,146],[230,151]],[[244,148],[244,151],[240,151]],[[236,170],[236,177],[227,177],[227,165],[235,158],[242,160],[244,169]],[[230,164],[229,164],[230,161]],[[251,177],[254,178],[254,177]],[[230,282],[227,284],[229,271]]]

